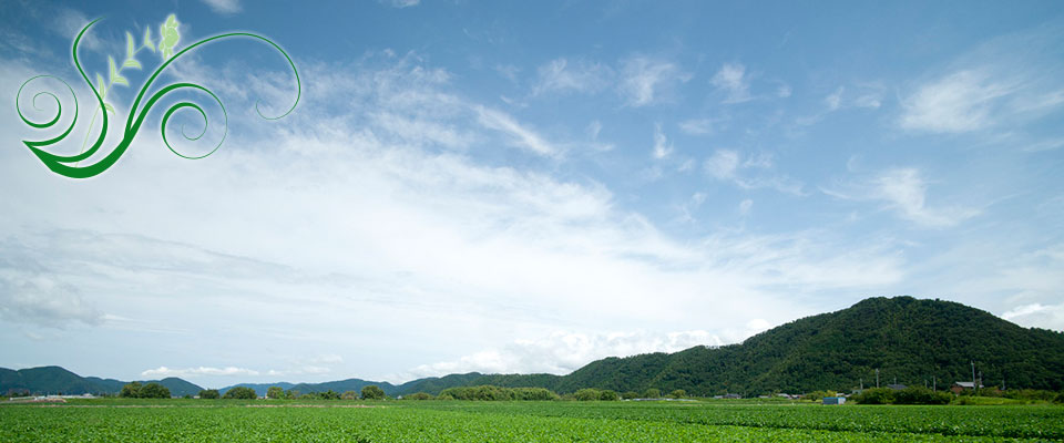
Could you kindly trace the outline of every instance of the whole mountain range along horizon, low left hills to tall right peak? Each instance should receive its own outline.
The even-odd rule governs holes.
[[[438,394],[447,388],[494,384],[538,387],[559,393],[582,388],[618,392],[683,389],[698,395],[848,391],[898,382],[948,387],[971,381],[972,362],[985,385],[1064,389],[1064,333],[1021,328],[990,312],[951,301],[911,297],[870,298],[850,308],[807,317],[719,348],[606,358],[567,375],[470,372],[418,379],[399,385],[361,379],[324,383],[243,383],[264,395],[269,387],[303,393],[356,391],[368,384],[388,395]],[[201,388],[170,378],[174,395]],[[0,369],[0,392],[115,393],[125,382],[81,378],[59,367]],[[233,387],[222,389],[223,393]]]

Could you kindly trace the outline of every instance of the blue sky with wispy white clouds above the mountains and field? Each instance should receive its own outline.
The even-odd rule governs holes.
[[[259,119],[295,99],[284,59],[204,47],[163,81],[218,94],[221,150],[173,155],[154,111],[85,181],[0,109],[2,367],[209,387],[567,373],[897,295],[1064,329],[1060,2],[3,9],[3,103],[47,73],[91,115],[73,35],[104,18],[80,53],[105,75],[170,13],[178,50],[269,37],[303,96]],[[133,90],[109,95],[122,115]],[[222,137],[203,99],[212,125],[182,152]]]

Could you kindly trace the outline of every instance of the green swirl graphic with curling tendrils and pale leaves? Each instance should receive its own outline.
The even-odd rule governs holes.
[[[125,151],[133,143],[133,140],[136,137],[137,132],[140,132],[141,125],[144,123],[144,119],[147,116],[147,113],[152,110],[152,106],[154,106],[156,102],[163,99],[166,94],[173,91],[180,91],[180,90],[200,91],[200,92],[206,93],[212,99],[214,99],[214,101],[222,109],[222,115],[224,119],[223,128],[225,131],[223,133],[222,140],[218,141],[218,144],[214,146],[214,148],[211,152],[204,155],[190,156],[190,155],[184,155],[178,153],[170,144],[170,141],[166,137],[166,125],[167,123],[170,123],[170,119],[171,116],[173,116],[175,112],[184,109],[190,109],[192,111],[195,111],[196,113],[200,114],[201,117],[203,117],[203,131],[198,135],[190,136],[185,134],[184,127],[182,127],[181,133],[182,133],[182,136],[185,137],[185,140],[188,140],[188,141],[200,140],[200,137],[206,134],[207,125],[208,125],[207,113],[198,104],[190,101],[181,101],[171,105],[168,109],[166,109],[166,112],[163,114],[162,123],[160,124],[160,132],[162,133],[162,136],[163,136],[163,143],[166,145],[167,148],[170,148],[171,152],[184,158],[191,158],[191,159],[204,158],[215,153],[218,150],[218,147],[222,146],[222,143],[225,142],[225,136],[228,133],[228,114],[225,111],[225,105],[222,103],[222,100],[218,99],[218,96],[215,95],[214,92],[195,83],[178,82],[178,83],[173,83],[173,84],[168,84],[161,87],[154,94],[149,96],[146,101],[144,101],[145,94],[147,94],[149,89],[151,89],[152,84],[155,82],[158,75],[163,72],[163,70],[170,66],[171,63],[173,63],[175,60],[181,59],[182,55],[206,43],[211,43],[211,42],[215,42],[215,41],[218,41],[222,39],[228,39],[228,38],[237,38],[237,37],[250,38],[250,39],[256,39],[258,41],[269,44],[275,50],[277,50],[277,52],[280,52],[280,54],[285,56],[285,60],[288,62],[288,65],[291,66],[291,72],[296,76],[296,100],[295,102],[293,102],[291,106],[289,106],[287,111],[285,111],[283,114],[277,116],[263,115],[262,111],[259,110],[259,103],[262,101],[257,100],[255,102],[255,111],[256,113],[258,113],[260,117],[266,120],[282,119],[288,115],[289,113],[291,113],[291,111],[296,109],[296,104],[299,103],[299,99],[303,96],[303,84],[299,80],[299,71],[296,70],[296,64],[291,61],[291,58],[288,56],[288,53],[285,52],[285,50],[283,50],[279,45],[277,45],[277,43],[274,43],[272,40],[265,37],[249,33],[249,32],[229,32],[229,33],[214,35],[214,37],[200,40],[175,53],[174,50],[178,39],[178,35],[177,35],[178,23],[174,16],[170,16],[166,22],[160,29],[163,35],[161,35],[161,39],[160,39],[161,41],[158,44],[158,50],[162,53],[163,63],[152,73],[152,75],[147,79],[144,85],[141,86],[140,92],[136,94],[136,100],[134,100],[132,106],[130,106],[129,117],[126,119],[125,126],[122,131],[122,140],[119,141],[117,145],[114,146],[114,148],[111,151],[110,154],[100,158],[96,163],[83,166],[80,164],[82,161],[85,161],[92,157],[94,154],[100,152],[101,147],[103,147],[104,140],[106,138],[106,134],[108,134],[108,125],[110,124],[108,113],[109,112],[114,113],[114,107],[111,106],[111,104],[104,102],[104,96],[106,95],[106,92],[108,92],[106,90],[111,86],[119,85],[119,84],[129,85],[129,82],[123,76],[121,76],[122,69],[125,69],[125,68],[140,69],[141,68],[140,62],[137,62],[134,59],[134,54],[139,51],[139,49],[135,48],[132,34],[126,33],[129,45],[127,45],[125,62],[122,63],[121,68],[117,68],[114,62],[114,59],[109,58],[109,64],[110,64],[109,76],[111,79],[110,84],[104,85],[103,78],[100,74],[96,74],[98,85],[93,85],[93,83],[89,80],[89,75],[85,74],[85,71],[82,69],[81,62],[79,61],[78,47],[81,44],[82,38],[85,35],[85,32],[89,30],[89,28],[91,28],[93,24],[95,24],[99,21],[100,19],[93,20],[92,22],[86,24],[84,28],[82,28],[81,32],[79,32],[78,37],[74,39],[74,44],[73,44],[73,48],[71,49],[74,68],[78,69],[78,72],[81,74],[81,78],[84,80],[85,84],[88,84],[90,90],[92,90],[93,96],[95,97],[95,102],[99,105],[98,112],[103,116],[100,134],[99,136],[96,136],[95,142],[92,144],[92,146],[89,146],[88,150],[83,150],[82,153],[75,154],[75,155],[58,155],[58,154],[52,154],[42,150],[43,147],[54,145],[65,140],[71,134],[75,123],[78,122],[78,116],[79,116],[78,96],[76,94],[74,94],[74,90],[65,81],[54,75],[48,75],[48,74],[37,75],[23,82],[22,85],[19,86],[19,92],[16,95],[16,109],[19,113],[19,117],[22,119],[23,123],[25,123],[27,125],[35,130],[49,130],[52,126],[54,126],[60,121],[60,117],[62,116],[63,107],[62,107],[62,104],[60,103],[59,97],[54,93],[38,92],[37,94],[33,95],[33,99],[31,101],[33,109],[38,111],[42,111],[42,109],[38,106],[38,99],[49,97],[55,103],[55,115],[45,122],[37,122],[37,121],[30,120],[22,113],[22,109],[21,109],[22,102],[20,100],[22,96],[22,91],[23,89],[25,89],[27,84],[40,79],[54,79],[63,83],[63,85],[66,86],[66,90],[70,92],[71,96],[74,97],[74,117],[70,122],[70,126],[68,126],[65,131],[63,131],[59,136],[48,138],[48,140],[41,140],[41,141],[29,141],[29,140],[22,141],[22,143],[24,143],[25,146],[29,147],[30,151],[34,155],[37,155],[38,158],[41,159],[41,162],[44,163],[44,166],[47,166],[49,169],[51,169],[52,172],[59,175],[70,177],[70,178],[88,178],[88,177],[96,176],[103,173],[104,171],[108,171],[108,168],[113,166],[114,163],[119,161],[119,158],[125,153]],[[141,49],[149,49],[152,52],[155,51],[155,44],[152,42],[150,29],[144,33],[144,45]],[[141,104],[142,101],[143,101],[143,106]],[[86,143],[88,143],[89,136],[92,134],[92,128],[94,124],[95,124],[95,114],[93,115],[92,123],[90,123],[89,132],[85,134]]]

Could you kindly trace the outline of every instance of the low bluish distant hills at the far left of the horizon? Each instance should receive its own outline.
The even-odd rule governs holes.
[[[33,394],[116,394],[122,391],[125,381],[80,377],[60,367],[40,367],[18,371],[0,368],[0,393],[30,392]],[[158,383],[170,390],[171,395],[195,395],[203,388],[178,378],[163,380],[142,380],[141,383]]]

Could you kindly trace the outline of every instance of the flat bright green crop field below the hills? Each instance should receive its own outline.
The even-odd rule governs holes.
[[[0,406],[2,442],[1003,440],[1064,440],[1064,408],[224,400]]]

